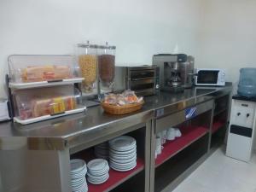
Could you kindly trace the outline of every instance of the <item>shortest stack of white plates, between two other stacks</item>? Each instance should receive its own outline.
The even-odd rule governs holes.
[[[108,161],[103,159],[90,160],[87,164],[87,180],[92,184],[102,184],[109,178]]]

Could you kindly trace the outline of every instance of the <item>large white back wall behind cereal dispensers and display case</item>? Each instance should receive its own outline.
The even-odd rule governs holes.
[[[117,46],[117,63],[151,64],[152,55],[195,55],[201,0],[0,0],[0,97],[11,54],[74,54],[90,39]]]

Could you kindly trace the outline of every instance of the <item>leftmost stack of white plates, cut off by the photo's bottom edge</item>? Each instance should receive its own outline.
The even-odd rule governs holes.
[[[87,192],[88,186],[85,175],[87,172],[84,160],[70,160],[71,188],[73,192]]]

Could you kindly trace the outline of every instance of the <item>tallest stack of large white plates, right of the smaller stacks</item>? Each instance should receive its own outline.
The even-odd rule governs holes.
[[[109,164],[119,172],[127,172],[137,166],[136,140],[121,136],[109,141]]]

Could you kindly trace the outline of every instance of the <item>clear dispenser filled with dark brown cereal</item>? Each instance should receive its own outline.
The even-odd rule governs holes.
[[[99,78],[102,90],[113,90],[115,46],[101,46],[99,49]]]

